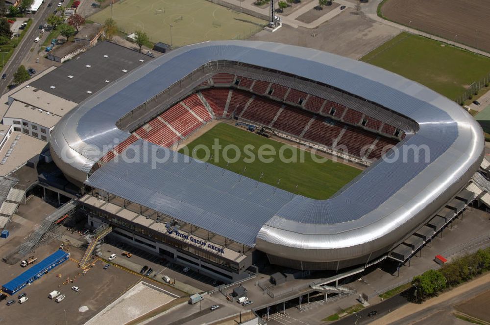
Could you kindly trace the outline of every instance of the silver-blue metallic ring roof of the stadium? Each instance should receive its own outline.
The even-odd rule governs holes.
[[[104,154],[88,152],[88,145],[101,148],[127,138],[128,133],[116,127],[119,118],[218,60],[279,70],[343,89],[415,120],[419,131],[399,143],[400,150],[386,161],[371,166],[328,200],[277,190],[265,196],[270,201],[258,201],[263,191],[273,187],[254,188],[255,182],[246,178],[237,184],[239,175],[231,172],[219,181],[199,176],[205,164],[195,162],[166,163],[158,172],[145,163],[110,162],[86,184],[163,213],[175,213],[176,218],[240,243],[255,242],[271,255],[321,262],[370,257],[401,241],[466,185],[483,157],[483,134],[474,119],[456,103],[416,82],[310,48],[219,41],[174,50],[81,103],[53,131],[56,163],[68,176],[85,181]],[[209,170],[222,172],[214,166]]]

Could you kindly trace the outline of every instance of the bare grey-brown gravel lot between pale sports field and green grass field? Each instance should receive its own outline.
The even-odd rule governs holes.
[[[399,32],[395,27],[356,15],[353,9],[345,9],[314,29],[283,24],[276,32],[261,31],[250,40],[311,47],[357,60]]]

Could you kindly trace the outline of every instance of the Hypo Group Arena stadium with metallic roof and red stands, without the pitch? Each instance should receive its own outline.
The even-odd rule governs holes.
[[[216,119],[367,168],[314,199],[181,159],[179,144]],[[465,188],[484,138],[456,103],[386,70],[310,48],[216,41],[173,50],[80,103],[50,147],[83,186],[91,226],[108,223],[122,240],[231,281],[260,252],[274,265],[335,272],[386,257]],[[149,162],[148,152],[168,159]]]

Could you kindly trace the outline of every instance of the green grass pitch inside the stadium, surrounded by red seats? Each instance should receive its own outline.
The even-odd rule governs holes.
[[[267,139],[225,123],[216,125],[201,137],[191,142],[187,148],[180,149],[179,152],[185,153],[187,150],[189,155],[192,155],[194,152],[194,157],[203,160],[205,157],[204,150],[199,149],[194,151],[194,149],[197,145],[204,145],[207,148],[211,148],[215,139],[219,139],[219,143],[222,146],[221,149],[217,151],[219,152],[219,159],[216,159],[216,155],[213,155],[213,157],[209,157],[210,159],[207,160],[208,162],[238,174],[243,174],[254,180],[314,199],[329,198],[341,189],[342,186],[362,172],[360,169],[343,163],[334,163],[331,160],[326,160],[324,157],[320,156],[315,157],[323,159],[324,162],[315,162],[310,152]],[[230,144],[238,146],[242,153],[235,163],[227,163],[223,158],[223,151],[225,151],[223,149]],[[276,155],[264,157],[273,158],[274,161],[272,163],[266,163],[261,162],[259,159],[255,159],[253,162],[246,162],[250,156],[248,154],[243,154],[245,152],[245,145],[254,146],[250,151],[256,158],[258,157],[259,148],[263,145],[269,145],[269,148],[274,148]],[[279,154],[279,151],[282,146],[285,146],[282,157],[284,157],[286,161],[280,159],[281,155]],[[296,160],[297,162],[288,163],[287,160],[292,160],[294,157],[293,151],[298,157]],[[213,154],[214,151],[210,150],[210,152]],[[301,162],[299,159],[302,154],[304,154],[304,162]],[[230,159],[233,159],[235,156],[234,150],[228,151],[228,157]],[[280,181],[278,184],[279,179]]]

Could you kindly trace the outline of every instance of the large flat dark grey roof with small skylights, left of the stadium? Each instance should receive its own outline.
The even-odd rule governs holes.
[[[151,59],[153,59],[151,56],[106,41],[76,55],[30,85],[66,100],[80,103]],[[87,65],[90,68],[87,68]],[[106,80],[109,82],[107,83]],[[51,86],[56,88],[52,89]],[[91,93],[87,93],[88,91]]]

